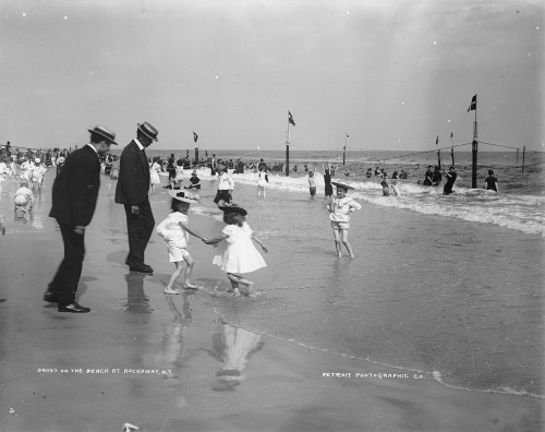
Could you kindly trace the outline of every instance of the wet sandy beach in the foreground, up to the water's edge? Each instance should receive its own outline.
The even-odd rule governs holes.
[[[129,273],[124,213],[107,195],[106,178],[77,292],[92,312],[58,313],[41,300],[62,256],[47,217],[51,180],[33,220],[10,224],[0,237],[0,430],[121,431],[125,422],[140,431],[543,430],[543,400],[449,388],[429,374],[223,322],[218,304],[254,300],[210,295],[227,279],[199,241],[191,253],[205,288],[165,296],[173,269],[165,244],[154,235],[146,251],[153,276]],[[168,208],[153,207],[158,223]],[[210,232],[210,218],[190,216]],[[267,243],[289,251],[274,238]]]

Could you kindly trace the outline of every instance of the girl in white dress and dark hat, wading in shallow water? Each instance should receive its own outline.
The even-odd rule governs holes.
[[[245,296],[254,296],[251,290],[253,281],[247,280],[242,273],[255,272],[258,268],[267,266],[261,253],[255,249],[254,240],[259,244],[264,252],[267,252],[265,244],[253,233],[245,221],[247,212],[237,204],[219,207],[223,211],[223,221],[227,226],[221,231],[221,236],[204,240],[206,244],[222,242],[219,253],[214,256],[213,264],[218,265],[227,273],[227,278],[231,281],[232,291],[238,293],[240,285],[245,285],[246,289],[242,291]]]

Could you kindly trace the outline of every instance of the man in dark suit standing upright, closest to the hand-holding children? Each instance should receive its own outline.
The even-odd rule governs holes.
[[[149,205],[149,165],[145,149],[157,141],[157,129],[144,122],[137,125],[136,139],[121,153],[116,203],[125,206],[131,272],[154,273],[144,263],[144,251],[154,231],[155,219]]]

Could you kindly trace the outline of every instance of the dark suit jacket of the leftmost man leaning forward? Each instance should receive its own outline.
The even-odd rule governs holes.
[[[59,223],[87,226],[97,206],[100,187],[98,155],[88,145],[72,152],[53,182],[50,217]]]

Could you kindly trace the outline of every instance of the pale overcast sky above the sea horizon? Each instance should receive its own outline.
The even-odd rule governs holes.
[[[541,0],[3,0],[0,143],[545,151]],[[497,147],[481,146],[493,151]],[[470,151],[470,146],[467,147]]]

